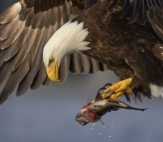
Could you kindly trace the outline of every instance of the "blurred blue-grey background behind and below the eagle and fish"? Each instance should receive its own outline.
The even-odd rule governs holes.
[[[9,2],[10,1],[10,2]],[[0,11],[16,0],[3,1]],[[145,112],[119,110],[103,117],[105,128],[96,123],[81,126],[75,115],[97,90],[117,78],[109,71],[97,75],[72,75],[62,85],[29,90],[21,97],[13,93],[0,106],[1,142],[162,142],[163,99],[143,99],[130,105],[148,108]],[[125,99],[122,97],[122,101]]]

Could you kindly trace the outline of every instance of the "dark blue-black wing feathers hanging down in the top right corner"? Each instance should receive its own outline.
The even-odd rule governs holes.
[[[142,24],[145,24],[148,21],[146,14],[147,11],[149,12],[149,17],[151,20],[153,20],[153,18],[159,18],[159,15],[163,14],[162,0],[113,0],[109,6],[109,9],[114,8],[118,2],[122,3],[122,9],[119,13],[120,18],[123,18],[126,15],[128,8],[130,5],[132,5],[133,10],[129,23],[135,22],[140,12],[142,16]]]

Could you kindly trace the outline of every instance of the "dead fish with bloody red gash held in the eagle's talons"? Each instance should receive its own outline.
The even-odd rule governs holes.
[[[95,100],[89,100],[84,104],[81,111],[75,117],[79,124],[86,125],[91,122],[95,123],[101,121],[102,116],[107,112],[117,111],[120,108],[139,111],[146,110],[146,108],[143,109],[132,107],[119,100],[112,100],[110,99],[111,94],[108,95],[107,98],[103,99],[102,94],[108,85],[111,84],[106,84],[103,88],[98,90]]]

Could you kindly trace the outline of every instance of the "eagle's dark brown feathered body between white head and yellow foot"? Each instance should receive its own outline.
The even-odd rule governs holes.
[[[140,98],[142,93],[150,98],[150,84],[163,86],[163,41],[151,23],[140,23],[140,16],[135,23],[128,24],[132,6],[127,16],[119,19],[122,3],[108,10],[110,2],[104,1],[97,2],[79,18],[89,31],[86,41],[91,50],[85,54],[108,64],[120,80],[132,78],[136,97]]]

